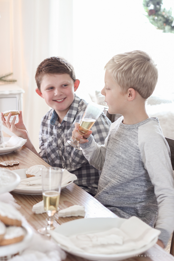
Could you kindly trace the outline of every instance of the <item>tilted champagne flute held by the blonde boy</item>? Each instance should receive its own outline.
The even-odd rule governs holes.
[[[83,114],[82,120],[79,124],[79,133],[83,136],[88,133],[88,131],[91,129],[95,121],[98,119],[100,114],[104,108],[94,102],[88,103],[86,110]],[[82,150],[82,148],[79,145],[79,139],[76,138],[75,141],[67,140],[68,144],[73,146],[74,148],[78,150]]]

